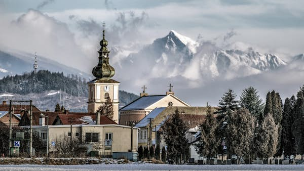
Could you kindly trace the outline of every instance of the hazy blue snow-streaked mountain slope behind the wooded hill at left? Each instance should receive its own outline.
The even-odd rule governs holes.
[[[22,52],[10,52],[0,50],[0,79],[8,74],[22,74],[33,70],[34,57],[32,54]],[[39,68],[53,72],[63,72],[65,74],[74,74],[89,79],[90,74],[78,69],[60,64],[59,62],[37,56]]]

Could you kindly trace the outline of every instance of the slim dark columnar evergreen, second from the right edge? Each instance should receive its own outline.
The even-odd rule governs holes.
[[[289,98],[285,99],[284,109],[283,109],[283,119],[281,121],[282,125],[282,133],[281,133],[281,147],[280,153],[284,151],[285,156],[290,156],[295,154],[295,144],[294,137],[292,135],[292,118],[291,112],[293,110],[293,106],[291,104],[291,100]]]

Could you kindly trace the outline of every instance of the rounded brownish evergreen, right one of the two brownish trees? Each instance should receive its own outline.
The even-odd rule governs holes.
[[[278,129],[275,119],[271,114],[267,114],[258,127],[258,134],[255,139],[257,145],[256,153],[260,158],[272,157],[277,152],[278,146]]]

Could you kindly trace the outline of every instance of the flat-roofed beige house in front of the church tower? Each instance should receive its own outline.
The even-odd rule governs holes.
[[[21,126],[29,127],[29,126]],[[41,138],[47,140],[47,126],[32,126],[33,131],[38,132]],[[100,155],[113,152],[137,151],[138,128],[118,124],[74,124],[72,125],[72,137],[79,138],[88,148],[88,153],[97,151]],[[62,137],[70,137],[70,125],[49,125],[49,151],[52,152],[52,144]],[[132,140],[132,148],[131,148]],[[54,142],[54,143],[52,143]],[[35,148],[35,147],[33,147]]]

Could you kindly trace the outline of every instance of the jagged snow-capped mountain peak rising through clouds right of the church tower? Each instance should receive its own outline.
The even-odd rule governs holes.
[[[244,77],[284,65],[286,62],[274,54],[262,54],[250,48],[221,49],[210,41],[197,42],[171,30],[138,53],[128,55],[120,67],[128,71],[122,77],[132,73],[138,79],[182,76],[203,80]]]

